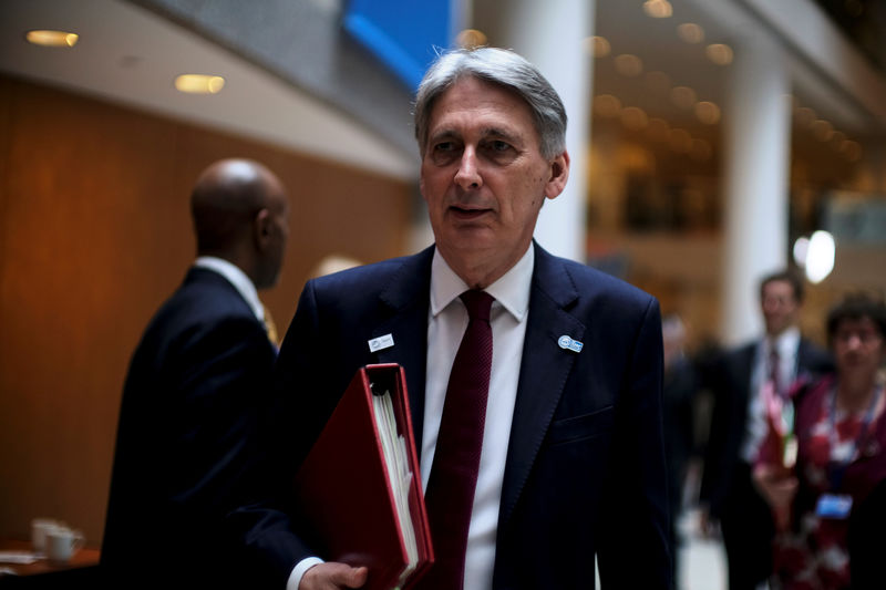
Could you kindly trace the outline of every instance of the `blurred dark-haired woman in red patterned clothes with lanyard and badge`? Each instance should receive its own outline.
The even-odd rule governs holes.
[[[758,479],[773,510],[790,515],[774,544],[777,589],[851,588],[849,516],[886,479],[886,304],[864,294],[847,297],[827,315],[827,340],[836,374],[797,400],[786,431],[792,436],[782,445],[790,456],[785,447],[795,437],[793,474],[785,469],[773,480],[771,469],[761,469],[770,477]]]

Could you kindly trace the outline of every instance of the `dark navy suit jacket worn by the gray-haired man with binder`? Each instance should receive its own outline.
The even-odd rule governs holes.
[[[533,247],[494,588],[593,588],[597,553],[605,588],[667,589],[658,302]],[[354,372],[369,363],[405,369],[421,448],[432,257],[433,247],[307,283],[275,380],[284,402],[278,415],[289,434],[280,443],[284,478],[307,454]],[[368,341],[385,334],[394,345],[370,352]],[[564,350],[562,335],[584,348]],[[298,507],[289,514],[293,521],[262,510],[237,515],[262,562],[258,569],[272,573],[270,588],[282,589],[295,563],[313,553],[310,531],[299,530]]]

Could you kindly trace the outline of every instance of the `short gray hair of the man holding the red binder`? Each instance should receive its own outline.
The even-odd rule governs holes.
[[[505,49],[456,49],[443,53],[424,74],[415,95],[415,138],[424,153],[434,101],[463,76],[473,76],[515,92],[529,106],[540,138],[542,156],[566,151],[566,108],[557,91],[521,55]]]

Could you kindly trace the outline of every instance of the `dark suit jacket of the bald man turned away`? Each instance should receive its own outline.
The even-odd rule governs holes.
[[[212,270],[190,269],[151,320],[121,404],[101,559],[110,587],[229,579],[219,524],[248,501],[276,354]]]

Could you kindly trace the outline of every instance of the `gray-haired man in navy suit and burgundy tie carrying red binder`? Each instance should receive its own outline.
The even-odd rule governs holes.
[[[513,52],[460,50],[425,74],[415,122],[435,245],[306,284],[275,377],[281,485],[354,372],[400,363],[436,557],[419,588],[593,588],[596,556],[604,588],[668,589],[658,302],[533,240],[569,174],[559,96]],[[492,332],[485,421],[461,433],[482,451],[472,475],[435,476],[457,447],[450,376],[468,324]],[[453,479],[465,513],[446,509]],[[320,562],[297,506],[236,517],[265,587],[364,583],[365,568]]]

